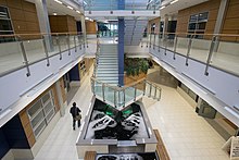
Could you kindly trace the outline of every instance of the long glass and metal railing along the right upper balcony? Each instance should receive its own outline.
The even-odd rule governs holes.
[[[174,60],[185,57],[185,65],[190,65],[189,59],[204,63],[206,76],[210,66],[239,76],[239,35],[154,33],[149,34],[147,40],[149,47],[160,53],[173,51]],[[160,53],[155,56],[160,58]]]

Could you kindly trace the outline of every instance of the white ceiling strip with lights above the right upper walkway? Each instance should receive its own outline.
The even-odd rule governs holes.
[[[164,19],[164,15],[175,15],[179,10],[209,1],[209,0],[178,0],[177,2],[169,4],[173,0],[164,0],[161,7],[166,5],[164,9],[160,10],[160,15]]]

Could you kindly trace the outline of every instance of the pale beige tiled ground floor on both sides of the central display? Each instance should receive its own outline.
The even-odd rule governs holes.
[[[92,96],[89,82],[87,77],[72,100],[80,107],[83,115],[86,114]],[[151,124],[160,131],[172,160],[229,159],[221,149],[225,140],[204,119],[198,116],[194,109],[174,88],[162,88],[161,101],[143,98],[143,103]],[[35,160],[77,160],[75,143],[79,128],[72,130],[68,109],[70,107]]]

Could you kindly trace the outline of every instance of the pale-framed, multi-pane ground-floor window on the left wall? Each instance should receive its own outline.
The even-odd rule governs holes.
[[[30,124],[37,138],[55,114],[52,90],[46,93],[27,111]]]

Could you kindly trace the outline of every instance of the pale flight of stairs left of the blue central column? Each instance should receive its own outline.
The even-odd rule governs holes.
[[[117,45],[102,44],[97,58],[96,78],[111,86],[118,84]]]

